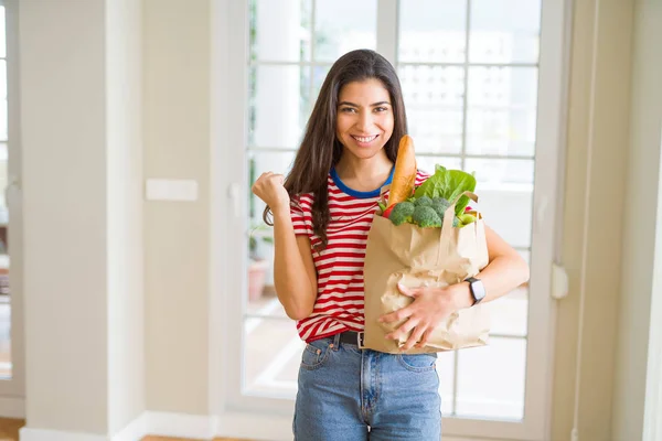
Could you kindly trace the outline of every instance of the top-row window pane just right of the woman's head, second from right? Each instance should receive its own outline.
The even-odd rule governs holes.
[[[398,61],[465,62],[466,0],[406,0],[399,4]]]

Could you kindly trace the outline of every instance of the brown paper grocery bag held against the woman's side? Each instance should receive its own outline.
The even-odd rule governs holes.
[[[463,195],[478,202],[473,193]],[[460,195],[461,196],[461,195]],[[365,335],[364,347],[385,353],[402,353],[409,335],[399,341],[385,335],[399,327],[397,323],[378,323],[377,319],[407,306],[414,299],[397,289],[407,287],[446,287],[476,276],[488,265],[488,246],[482,216],[462,228],[452,227],[455,205],[444,216],[441,228],[420,228],[412,224],[395,226],[375,215],[367,235],[365,250]],[[414,347],[407,354],[452,351],[482,346],[490,330],[488,311],[481,304],[460,310],[444,320],[430,335],[425,347]]]

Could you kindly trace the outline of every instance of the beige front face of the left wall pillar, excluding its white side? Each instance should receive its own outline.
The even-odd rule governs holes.
[[[105,1],[21,2],[26,419],[107,429]]]

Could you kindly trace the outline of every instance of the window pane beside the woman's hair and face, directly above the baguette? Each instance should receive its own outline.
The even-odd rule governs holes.
[[[416,151],[459,153],[462,150],[465,71],[405,65],[399,68],[399,77]]]

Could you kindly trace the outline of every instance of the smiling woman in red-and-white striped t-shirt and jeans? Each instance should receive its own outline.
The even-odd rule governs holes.
[[[331,67],[290,174],[264,173],[253,192],[273,214],[278,299],[307,347],[295,410],[296,440],[439,440],[436,354],[384,354],[359,347],[363,331],[365,241],[393,178],[407,123],[393,66],[373,51]],[[427,175],[418,172],[416,185]],[[490,263],[477,278],[496,299],[528,279],[520,255],[485,228]],[[387,337],[412,332],[405,349],[451,312],[471,306],[468,282],[445,289],[401,288],[415,301],[383,316],[408,320]]]

